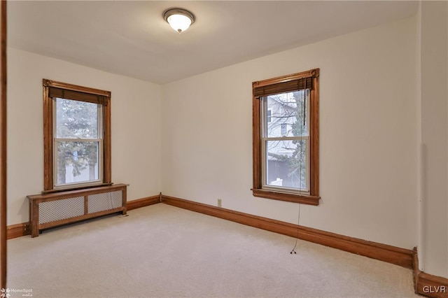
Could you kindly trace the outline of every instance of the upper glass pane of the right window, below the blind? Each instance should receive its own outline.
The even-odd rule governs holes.
[[[308,136],[308,104],[304,104],[304,95],[305,90],[298,90],[265,97],[267,101],[265,135],[268,138]]]

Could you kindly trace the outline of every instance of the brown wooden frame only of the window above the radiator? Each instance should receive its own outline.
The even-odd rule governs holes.
[[[53,179],[53,166],[55,166],[53,160],[54,115],[52,108],[53,100],[52,97],[50,97],[50,88],[58,88],[68,93],[71,92],[75,96],[80,95],[80,98],[75,98],[74,100],[101,104],[103,116],[102,182],[92,185],[73,185],[73,187],[64,187],[55,190]],[[85,100],[83,100],[83,97],[85,97]],[[79,188],[110,185],[111,178],[111,92],[43,79],[43,192],[75,190]]]

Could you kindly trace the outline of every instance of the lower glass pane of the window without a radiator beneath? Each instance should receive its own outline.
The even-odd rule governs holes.
[[[307,140],[266,141],[266,185],[307,190]]]

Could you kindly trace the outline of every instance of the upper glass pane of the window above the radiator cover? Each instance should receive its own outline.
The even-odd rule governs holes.
[[[99,139],[99,104],[56,99],[56,137],[59,139]]]

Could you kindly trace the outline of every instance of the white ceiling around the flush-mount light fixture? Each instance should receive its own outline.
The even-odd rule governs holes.
[[[181,34],[162,13],[186,8]],[[153,83],[415,15],[417,1],[9,1],[8,45]]]

